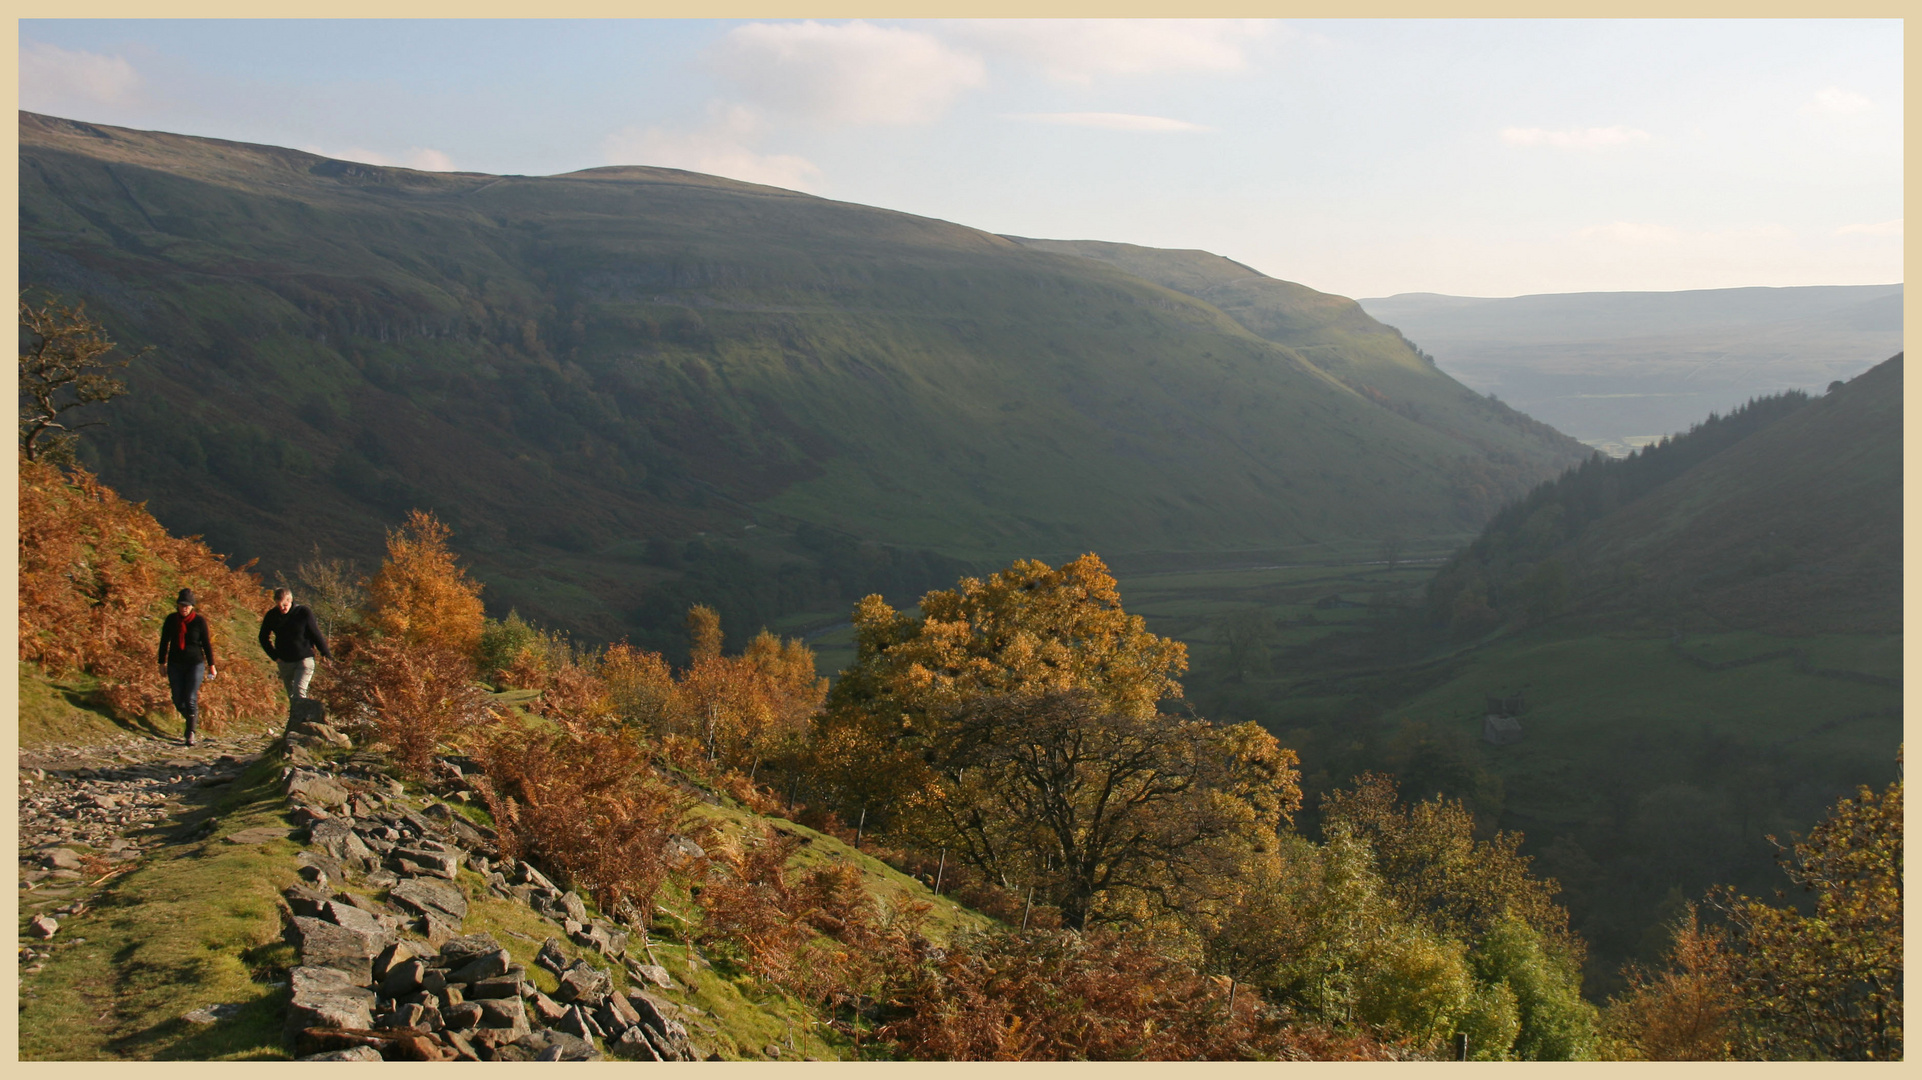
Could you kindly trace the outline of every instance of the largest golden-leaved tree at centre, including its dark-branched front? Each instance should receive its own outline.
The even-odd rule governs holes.
[[[1096,555],[963,578],[919,619],[871,596],[853,623],[813,748],[842,813],[1030,886],[1071,928],[1219,897],[1299,803],[1272,736],[1159,709],[1186,651]]]

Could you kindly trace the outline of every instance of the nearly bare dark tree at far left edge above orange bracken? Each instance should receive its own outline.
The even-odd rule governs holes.
[[[119,346],[86,315],[86,304],[48,300],[35,307],[25,296],[19,336],[19,452],[27,461],[73,465],[79,430],[102,423],[73,423],[73,411],[125,394],[127,384],[113,371],[150,350],[115,357]]]

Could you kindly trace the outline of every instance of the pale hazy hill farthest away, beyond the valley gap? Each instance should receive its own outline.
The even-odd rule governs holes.
[[[1753,396],[1859,375],[1903,348],[1901,296],[1849,284],[1359,304],[1476,390],[1624,454]]]

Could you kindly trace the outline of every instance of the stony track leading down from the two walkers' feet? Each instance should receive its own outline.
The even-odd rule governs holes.
[[[85,915],[92,892],[165,844],[196,840],[179,817],[258,761],[263,736],[125,738],[104,746],[38,746],[19,753],[19,890],[31,915],[19,947],[29,982],[62,945],[60,922]],[[211,826],[211,822],[208,822]],[[31,992],[23,986],[23,992]]]

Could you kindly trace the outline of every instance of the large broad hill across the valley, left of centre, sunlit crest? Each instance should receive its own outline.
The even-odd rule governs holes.
[[[719,590],[753,626],[953,559],[1465,534],[1578,457],[1259,275],[1230,317],[675,169],[415,173],[35,113],[19,154],[21,281],[158,346],[88,465],[269,575],[315,542],[367,563],[423,505],[498,609],[615,638]],[[1322,313],[1276,329],[1276,286]]]

